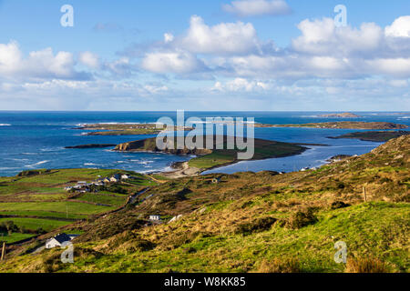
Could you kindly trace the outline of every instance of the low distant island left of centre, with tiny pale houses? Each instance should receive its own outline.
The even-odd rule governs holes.
[[[166,127],[156,124],[94,124],[81,125],[74,129],[81,130],[98,130],[97,132],[89,132],[86,135],[158,135],[160,132],[167,131],[182,131],[192,130],[188,126]]]

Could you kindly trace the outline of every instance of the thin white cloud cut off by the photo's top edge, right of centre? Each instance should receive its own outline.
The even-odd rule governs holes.
[[[226,12],[239,16],[287,15],[291,8],[284,0],[240,0],[222,5]]]

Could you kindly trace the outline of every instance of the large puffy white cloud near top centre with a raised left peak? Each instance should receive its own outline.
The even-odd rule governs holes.
[[[244,54],[254,50],[258,44],[256,30],[250,23],[209,26],[197,15],[190,17],[187,34],[174,43],[177,47],[200,54]]]

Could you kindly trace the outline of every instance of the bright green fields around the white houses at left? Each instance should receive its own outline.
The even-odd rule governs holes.
[[[99,186],[101,189],[96,189],[95,193],[71,193],[64,189],[75,186],[77,181],[91,182],[98,176],[115,174],[135,178],[102,188]],[[122,170],[43,169],[0,177],[0,233],[3,234],[0,240],[13,243],[118,209],[125,205],[129,195],[153,185],[156,183],[148,176]],[[10,226],[3,232],[2,223]]]

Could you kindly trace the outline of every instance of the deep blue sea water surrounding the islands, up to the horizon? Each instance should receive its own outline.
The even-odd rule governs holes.
[[[263,124],[302,124],[325,121],[386,121],[410,125],[410,113],[357,113],[360,118],[323,118],[323,112],[185,112],[186,118],[254,117]],[[159,117],[176,120],[176,112],[11,112],[0,111],[0,176],[14,176],[22,170],[36,168],[118,168],[142,173],[169,170],[173,162],[188,156],[151,153],[118,153],[109,149],[65,149],[65,146],[86,144],[119,144],[154,137],[155,135],[88,136],[74,129],[94,123],[154,123]],[[351,139],[329,139],[357,130],[313,128],[255,128],[255,137],[282,142],[319,143],[309,146],[299,156],[262,161],[244,161],[206,173],[274,170],[290,172],[302,167],[321,166],[335,155],[362,155],[379,143]]]

